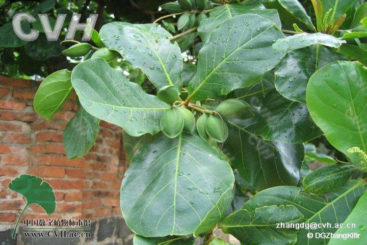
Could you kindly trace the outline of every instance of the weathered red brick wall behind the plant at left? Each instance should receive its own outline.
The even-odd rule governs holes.
[[[9,181],[21,174],[37,175],[53,186],[57,199],[53,218],[121,214],[119,188],[125,170],[121,129],[101,121],[91,151],[69,160],[62,133],[75,113],[75,96],[47,121],[33,109],[38,85],[0,76],[0,231],[13,228],[25,204],[20,194],[8,189]],[[46,216],[31,205],[23,217]]]

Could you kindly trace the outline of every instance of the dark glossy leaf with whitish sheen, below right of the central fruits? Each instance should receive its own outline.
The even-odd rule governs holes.
[[[257,190],[298,184],[303,144],[265,141],[231,121],[229,126],[226,153],[246,182]]]

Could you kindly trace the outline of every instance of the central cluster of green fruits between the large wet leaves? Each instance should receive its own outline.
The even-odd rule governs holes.
[[[158,98],[168,104],[176,102],[179,91],[176,86],[165,86],[157,93]],[[196,121],[196,130],[206,142],[209,138],[223,143],[228,137],[229,119],[247,119],[253,114],[249,105],[238,99],[229,99],[220,103],[212,114],[203,113]],[[169,138],[177,137],[182,131],[192,134],[195,130],[194,114],[183,107],[172,107],[161,117],[162,132]]]

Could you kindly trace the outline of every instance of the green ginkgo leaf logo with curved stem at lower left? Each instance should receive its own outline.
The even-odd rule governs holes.
[[[56,197],[54,189],[41,178],[33,175],[21,175],[12,180],[8,188],[22,194],[27,199],[27,204],[25,204],[15,224],[13,238],[15,238],[20,218],[31,204],[38,204],[48,215],[55,212]]]

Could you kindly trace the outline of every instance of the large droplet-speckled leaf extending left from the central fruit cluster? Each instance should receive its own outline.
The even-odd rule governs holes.
[[[106,60],[92,58],[75,66],[72,85],[84,109],[123,128],[132,136],[160,131],[160,117],[170,107],[125,79]]]

